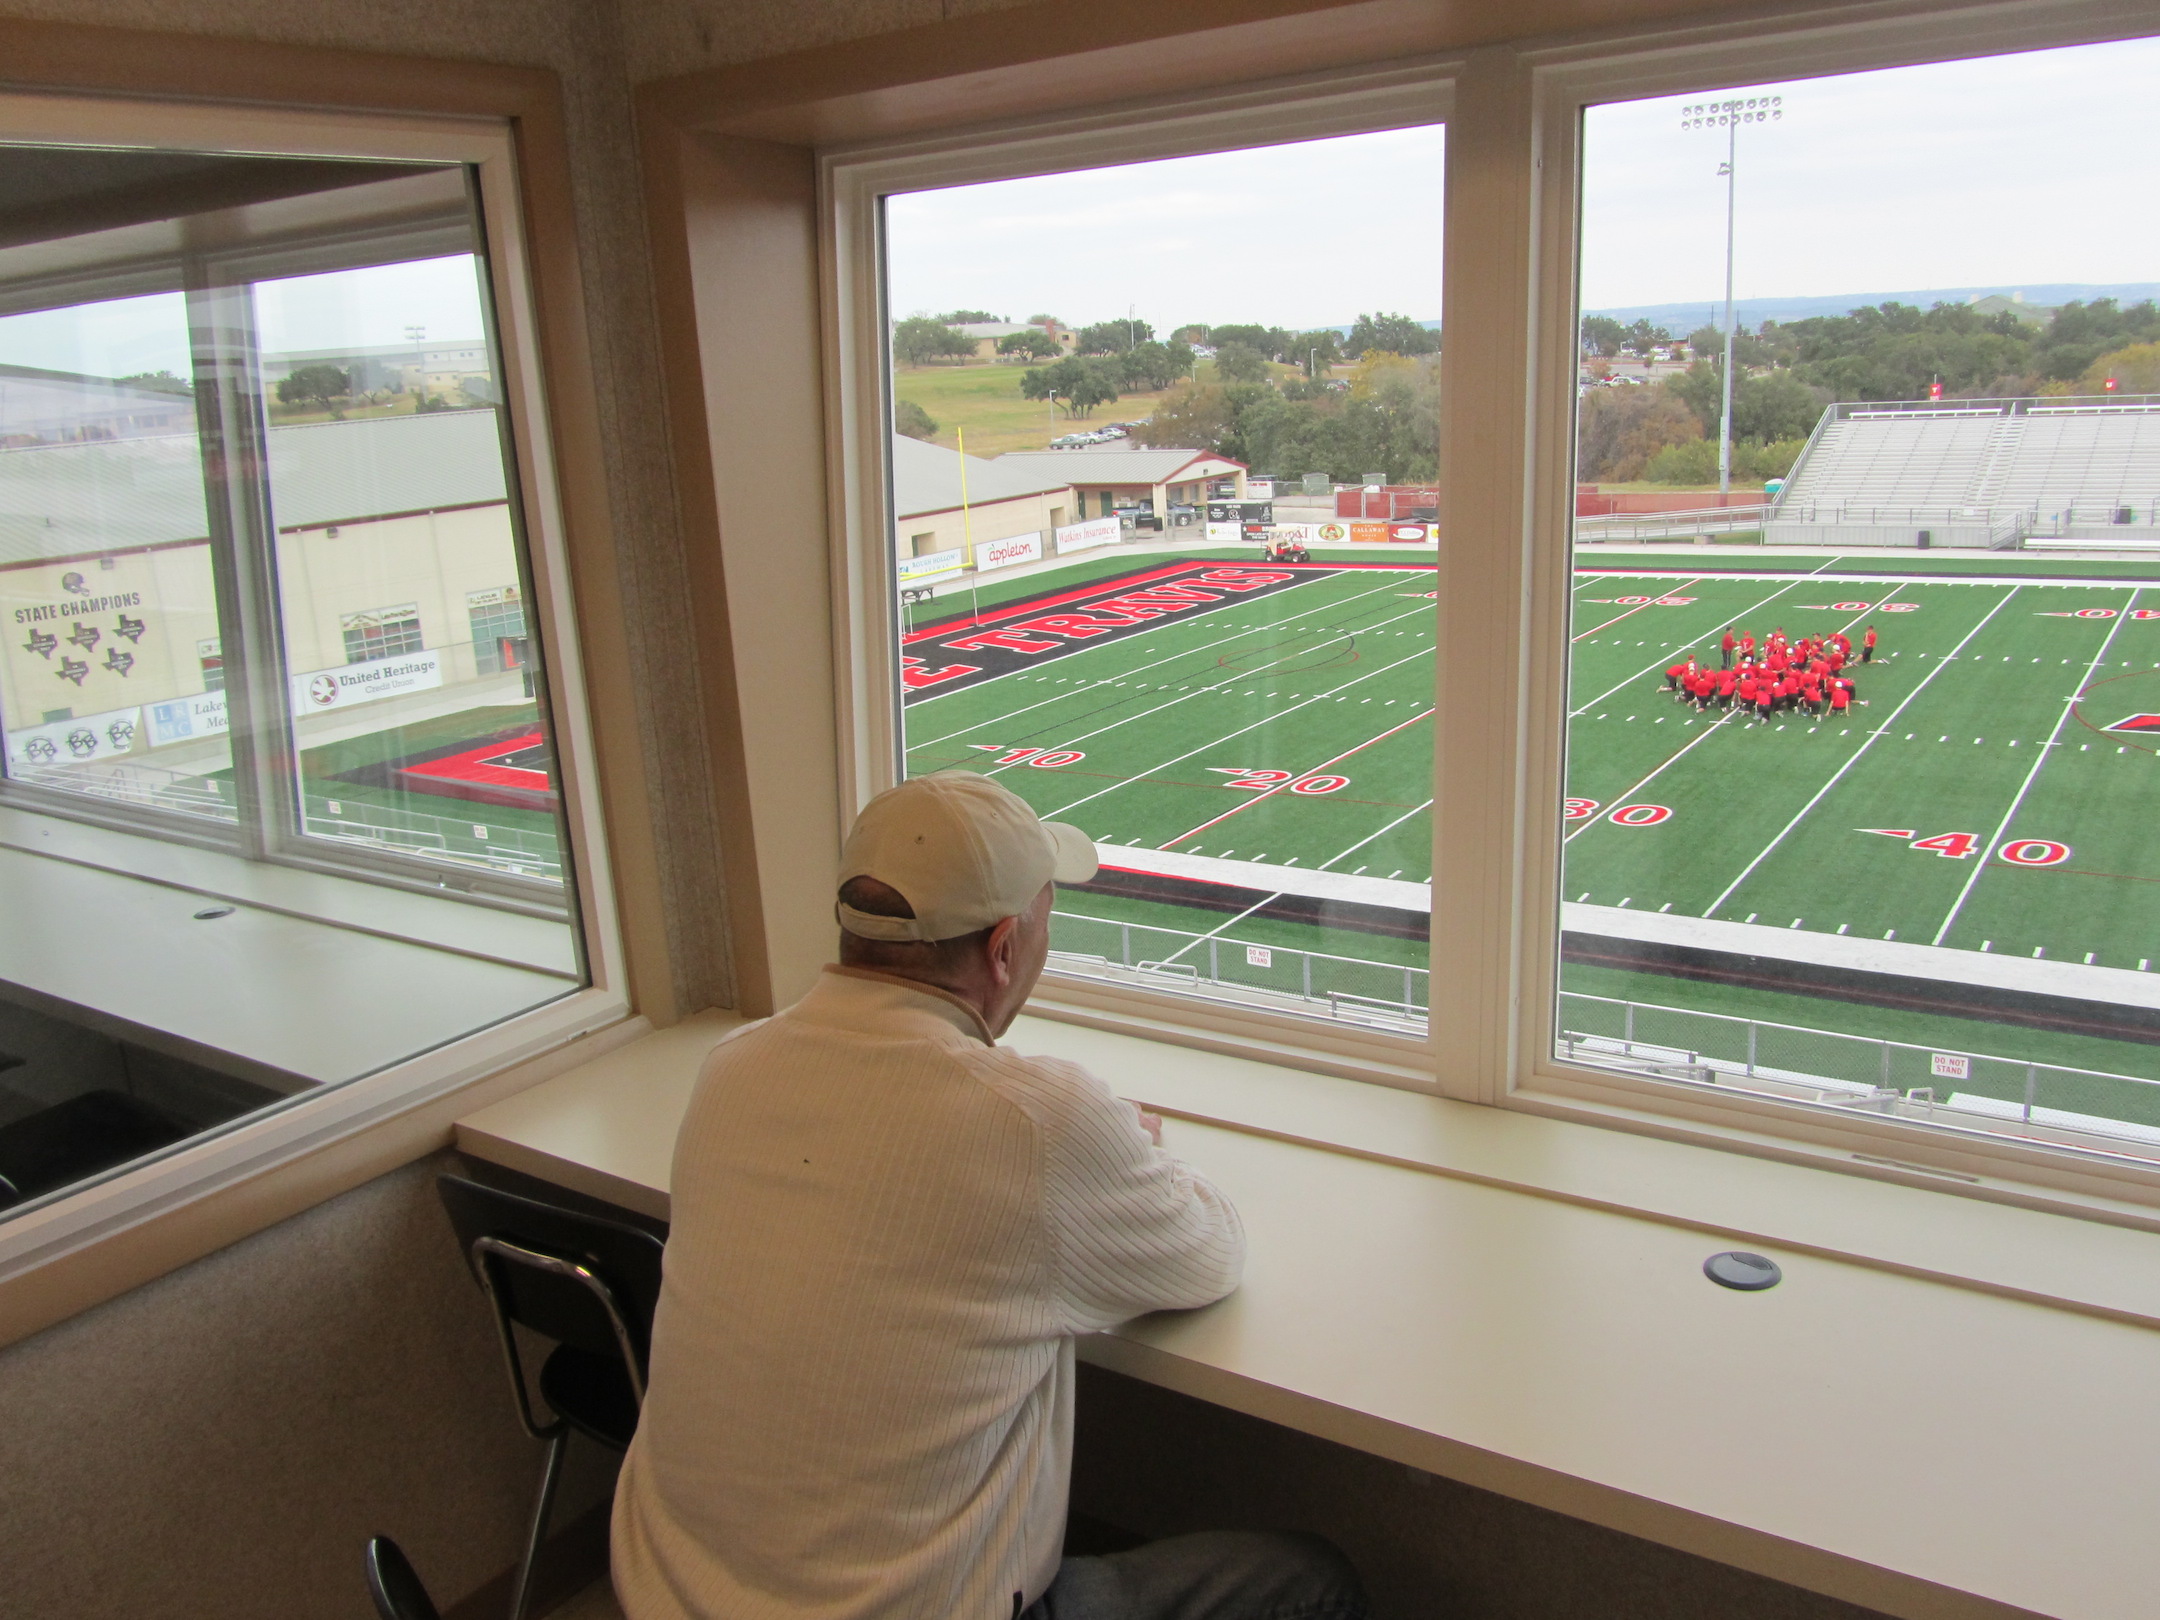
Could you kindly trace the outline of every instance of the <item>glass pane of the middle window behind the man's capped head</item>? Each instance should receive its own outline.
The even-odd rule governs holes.
[[[1058,972],[1423,1028],[1441,156],[886,201],[905,769],[1095,838]]]

